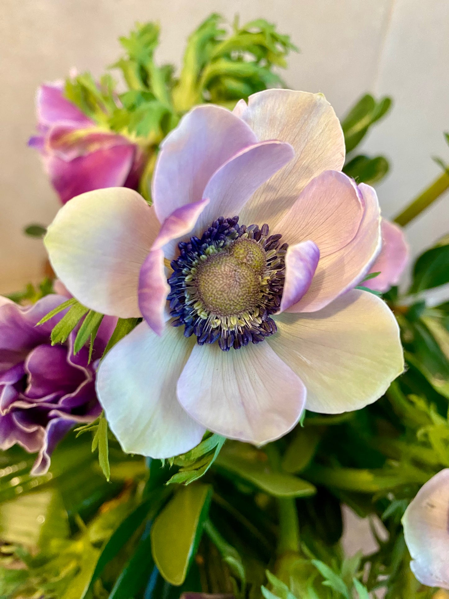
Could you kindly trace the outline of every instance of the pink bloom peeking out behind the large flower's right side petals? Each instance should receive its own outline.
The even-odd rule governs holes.
[[[380,274],[374,279],[369,279],[363,285],[383,293],[393,285],[398,285],[409,261],[409,247],[400,226],[382,219],[380,229],[382,248],[369,271]]]

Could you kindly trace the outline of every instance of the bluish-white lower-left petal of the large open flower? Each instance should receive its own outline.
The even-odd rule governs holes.
[[[201,441],[205,429],[175,392],[192,344],[180,327],[166,326],[158,337],[142,322],[101,362],[97,395],[125,452],[170,458]]]

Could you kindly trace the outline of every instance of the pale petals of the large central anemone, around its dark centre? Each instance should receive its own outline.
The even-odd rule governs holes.
[[[395,317],[381,299],[354,289],[380,250],[380,211],[372,187],[340,172],[344,154],[341,126],[323,95],[267,90],[233,113],[202,105],[181,119],[162,144],[151,207],[116,188],[61,208],[45,245],[69,292],[93,310],[144,317],[97,377],[126,452],[177,455],[206,430],[263,444],[290,431],[304,406],[359,409],[402,372]],[[165,265],[177,268],[179,242],[195,244],[195,236],[217,230],[219,217],[234,223],[235,215],[239,225],[268,223],[289,247],[274,325],[262,343],[254,344],[257,329],[253,343],[225,352],[211,338],[196,344],[171,326]],[[229,280],[227,297],[238,298],[247,291],[238,278],[247,262],[233,271],[225,259],[227,270],[208,285],[226,299]],[[254,326],[265,326],[253,313]]]

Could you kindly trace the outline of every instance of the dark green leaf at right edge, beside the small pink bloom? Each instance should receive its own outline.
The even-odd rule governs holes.
[[[449,282],[449,244],[432,247],[421,254],[413,267],[410,294],[433,289]]]

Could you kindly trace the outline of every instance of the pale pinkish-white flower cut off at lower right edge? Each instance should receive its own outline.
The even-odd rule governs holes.
[[[449,589],[449,468],[421,487],[402,525],[414,575],[423,585]]]

